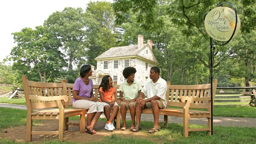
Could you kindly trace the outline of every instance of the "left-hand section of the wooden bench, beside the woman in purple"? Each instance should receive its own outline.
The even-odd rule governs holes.
[[[85,109],[69,108],[71,95],[67,94],[65,80],[61,83],[43,83],[27,79],[22,75],[22,83],[27,103],[27,134],[26,140],[32,141],[32,135],[56,134],[59,140],[64,139],[64,130],[68,125],[80,126],[80,132],[85,132]],[[69,123],[69,117],[80,116],[80,123]],[[58,120],[58,131],[32,130],[33,120]]]

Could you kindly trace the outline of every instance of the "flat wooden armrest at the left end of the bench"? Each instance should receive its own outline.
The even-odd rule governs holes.
[[[34,96],[29,95],[30,100],[36,100],[36,101],[58,101],[63,100],[65,102],[69,101],[69,96]]]

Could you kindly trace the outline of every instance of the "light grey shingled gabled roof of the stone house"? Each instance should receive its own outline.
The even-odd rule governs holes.
[[[124,47],[115,47],[115,48],[110,48],[108,49],[106,52],[102,53],[101,55],[99,55],[98,57],[96,57],[95,59],[108,59],[108,58],[116,58],[116,57],[129,57],[129,56],[139,56],[142,57],[140,55],[140,53],[145,49],[145,48],[149,48],[149,45],[147,43],[143,44],[142,48],[138,49],[138,45],[131,45],[131,46],[124,46]],[[150,49],[150,48],[149,48]],[[155,59],[155,56],[152,52],[152,50],[150,49],[152,55],[153,55],[153,61],[155,63],[158,63],[157,60]]]

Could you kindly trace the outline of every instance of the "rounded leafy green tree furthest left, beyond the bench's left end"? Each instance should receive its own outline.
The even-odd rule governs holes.
[[[65,66],[58,43],[49,37],[44,27],[23,28],[12,35],[17,46],[12,48],[10,59],[14,61],[12,68],[18,70],[19,75],[36,73],[42,82],[46,82]]]

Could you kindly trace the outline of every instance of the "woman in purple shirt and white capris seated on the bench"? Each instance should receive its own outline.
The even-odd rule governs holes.
[[[91,65],[85,64],[80,69],[80,77],[75,80],[73,87],[73,104],[74,108],[88,109],[87,112],[87,127],[85,132],[94,134],[93,130],[101,113],[104,111],[102,102],[93,95],[93,83],[89,79],[92,75]]]

